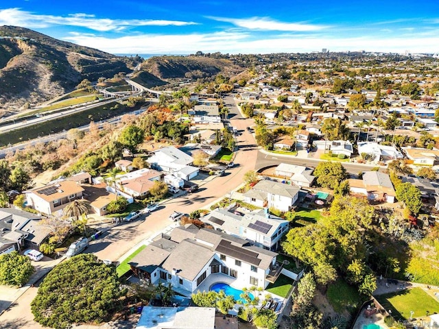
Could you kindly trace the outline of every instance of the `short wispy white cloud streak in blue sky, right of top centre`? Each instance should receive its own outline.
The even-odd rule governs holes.
[[[325,29],[324,25],[313,25],[306,23],[285,23],[274,21],[267,17],[251,17],[250,19],[228,19],[224,17],[209,16],[209,19],[215,21],[231,23],[233,25],[244,27],[246,29],[260,29],[265,31],[318,31]]]

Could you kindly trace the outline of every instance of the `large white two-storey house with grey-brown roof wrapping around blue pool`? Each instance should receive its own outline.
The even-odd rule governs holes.
[[[244,239],[188,225],[147,245],[129,265],[137,277],[152,284],[169,283],[174,291],[190,296],[213,274],[233,279],[237,287],[265,289],[276,256]]]

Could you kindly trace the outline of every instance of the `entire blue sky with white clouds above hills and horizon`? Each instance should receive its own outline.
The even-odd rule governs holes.
[[[126,54],[439,52],[439,0],[1,0],[0,25]]]

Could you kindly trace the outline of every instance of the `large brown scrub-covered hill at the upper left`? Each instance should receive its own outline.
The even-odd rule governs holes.
[[[129,73],[139,61],[22,27],[0,27],[0,37],[0,115],[62,95],[83,79]]]

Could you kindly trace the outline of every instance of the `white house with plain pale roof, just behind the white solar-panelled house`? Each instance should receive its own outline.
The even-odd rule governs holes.
[[[252,189],[244,193],[244,202],[254,206],[275,208],[286,212],[298,199],[300,187],[261,180]]]

